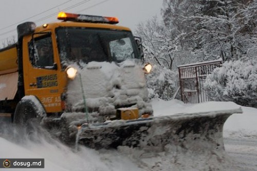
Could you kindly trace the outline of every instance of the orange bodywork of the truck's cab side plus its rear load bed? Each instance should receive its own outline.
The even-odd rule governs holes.
[[[61,67],[61,61],[58,52],[56,40],[56,28],[58,27],[85,27],[85,28],[102,28],[127,30],[126,27],[97,24],[97,23],[77,23],[77,22],[59,22],[51,23],[35,28],[34,33],[23,37],[23,77],[25,96],[35,96],[45,107],[46,112],[61,112],[65,107],[62,101],[62,93],[66,92],[68,78],[65,69]],[[56,63],[57,69],[44,69],[33,67],[29,60],[28,43],[34,38],[42,36],[42,32],[50,32],[53,49],[53,62]],[[18,64],[17,64],[17,48],[15,45],[0,50],[0,100],[13,100],[17,92],[18,83]],[[39,87],[38,82],[43,85]],[[2,88],[2,89],[1,89]]]

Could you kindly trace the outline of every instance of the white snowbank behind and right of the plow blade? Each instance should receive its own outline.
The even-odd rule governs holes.
[[[155,116],[175,115],[176,113],[206,112],[241,107],[243,113],[234,113],[224,124],[224,137],[256,138],[257,109],[244,107],[233,102],[205,102],[199,104],[184,104],[178,100],[163,101],[155,99],[152,102]]]

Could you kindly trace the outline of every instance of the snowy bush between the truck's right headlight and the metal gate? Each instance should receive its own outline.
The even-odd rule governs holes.
[[[149,98],[171,100],[177,90],[177,73],[166,67],[153,66],[150,74],[146,75]]]

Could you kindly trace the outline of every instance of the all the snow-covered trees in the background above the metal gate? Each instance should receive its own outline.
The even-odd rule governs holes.
[[[178,65],[218,58],[254,62],[256,9],[257,0],[163,0],[162,20],[153,17],[136,33],[146,61],[159,68],[177,71]]]

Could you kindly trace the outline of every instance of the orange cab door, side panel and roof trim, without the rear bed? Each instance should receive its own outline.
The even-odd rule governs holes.
[[[57,70],[35,68],[29,61],[28,43],[32,40],[32,35],[24,36],[23,39],[23,71],[24,71],[24,89],[25,96],[36,96],[44,105],[46,112],[61,112],[64,108],[64,101],[62,101],[62,93],[66,91],[68,78],[65,70],[61,67],[60,56],[56,41],[55,30],[58,27],[90,27],[90,28],[105,28],[127,30],[126,27],[110,25],[110,24],[93,24],[93,23],[76,23],[76,22],[60,22],[48,24],[46,27],[37,27],[35,33],[51,32],[54,63],[57,64]],[[41,34],[34,34],[33,37],[41,36]],[[39,88],[38,80],[42,80],[42,84],[51,85]]]

